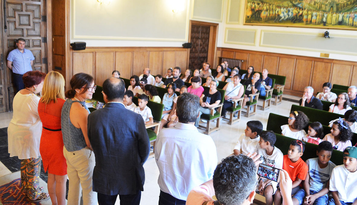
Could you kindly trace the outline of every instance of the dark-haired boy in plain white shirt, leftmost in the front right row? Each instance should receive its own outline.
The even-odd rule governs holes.
[[[249,152],[256,152],[259,146],[259,135],[262,131],[263,124],[260,121],[252,120],[247,122],[247,128],[244,130],[244,134],[239,137],[233,153],[235,155],[247,155]]]

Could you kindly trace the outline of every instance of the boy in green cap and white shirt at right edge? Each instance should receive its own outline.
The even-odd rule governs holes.
[[[331,195],[327,205],[357,204],[357,147],[347,147],[343,151],[343,164],[332,170],[330,179]]]

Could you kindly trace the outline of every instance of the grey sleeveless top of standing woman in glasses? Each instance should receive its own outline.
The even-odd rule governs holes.
[[[72,107],[72,103],[79,102],[84,108],[90,113],[85,102],[82,101],[72,101],[71,98],[67,99],[63,104],[62,113],[61,113],[61,128],[62,128],[62,137],[63,144],[67,151],[73,152],[81,150],[87,146],[81,128],[76,128],[69,118],[69,111]]]

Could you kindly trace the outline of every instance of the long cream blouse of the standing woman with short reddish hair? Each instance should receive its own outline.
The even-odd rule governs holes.
[[[42,123],[37,107],[40,97],[34,94],[22,95],[17,92],[12,107],[14,113],[7,128],[10,157],[20,160],[40,156]]]

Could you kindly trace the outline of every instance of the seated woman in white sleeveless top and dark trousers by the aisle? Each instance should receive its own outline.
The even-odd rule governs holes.
[[[224,96],[224,102],[222,106],[221,116],[226,116],[226,109],[233,106],[232,99],[239,99],[244,94],[244,86],[241,84],[241,76],[236,74],[233,77],[232,82],[228,82],[223,90],[226,91],[226,95]]]

